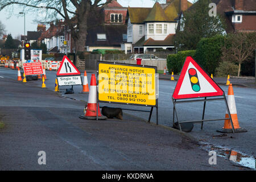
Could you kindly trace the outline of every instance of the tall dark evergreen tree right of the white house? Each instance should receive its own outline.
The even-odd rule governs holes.
[[[210,0],[199,0],[187,11],[180,20],[181,31],[175,35],[175,47],[180,50],[196,49],[201,38],[211,38],[225,33],[225,23],[221,16],[210,16]]]

